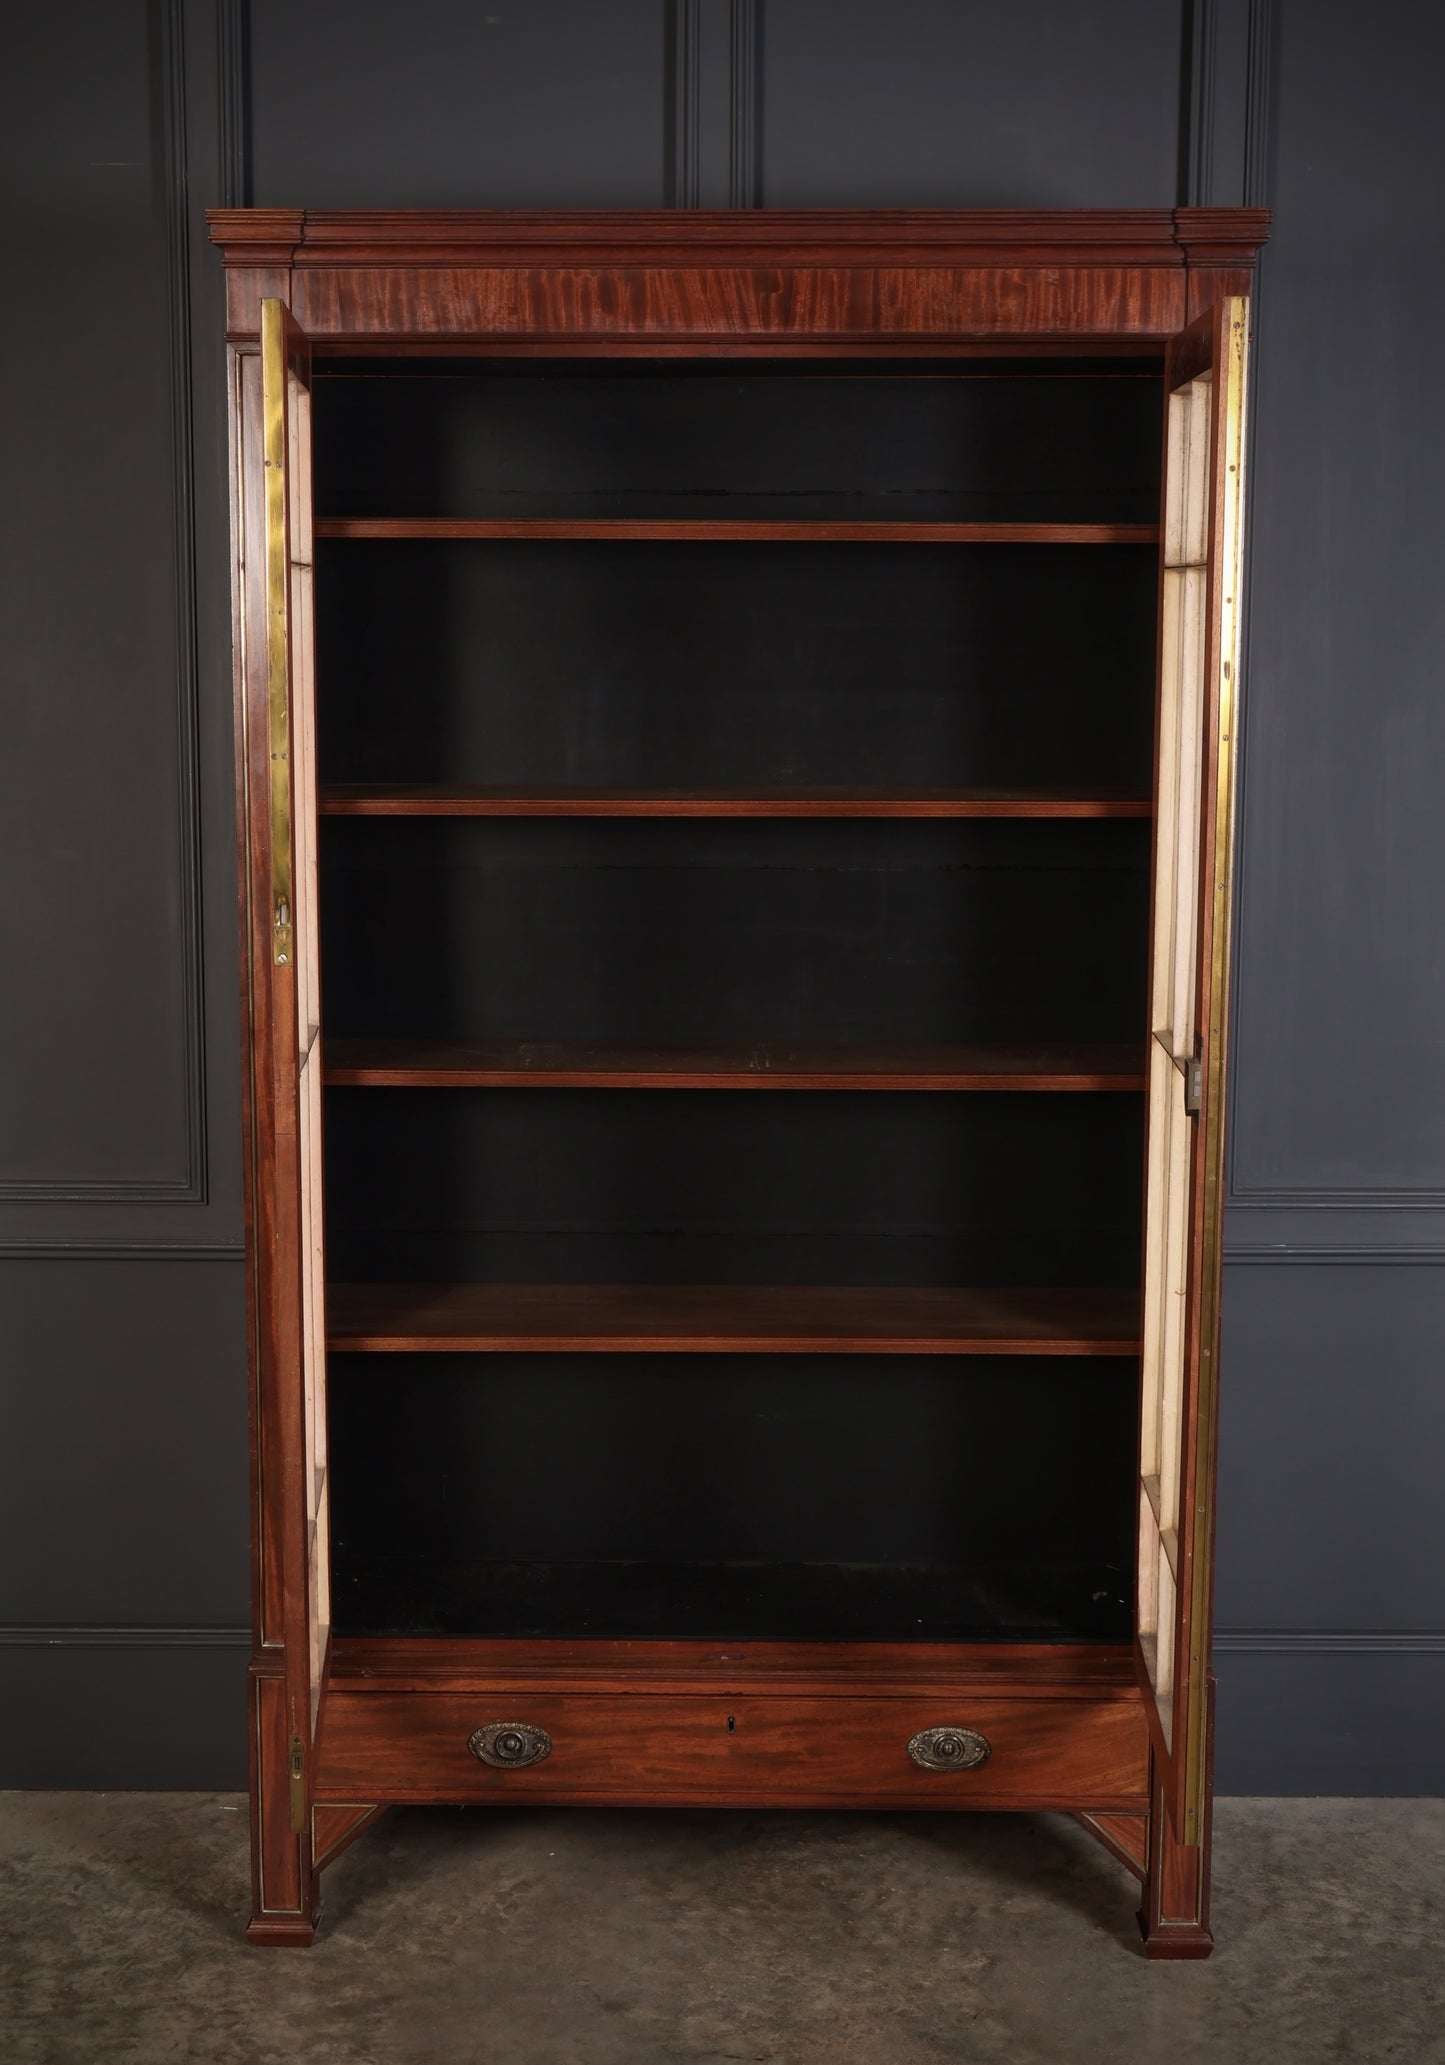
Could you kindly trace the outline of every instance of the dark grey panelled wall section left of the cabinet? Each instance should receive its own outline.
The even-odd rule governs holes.
[[[246,1778],[231,27],[6,21],[0,1784]]]

